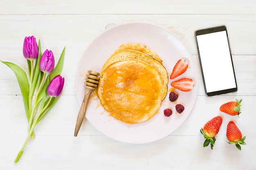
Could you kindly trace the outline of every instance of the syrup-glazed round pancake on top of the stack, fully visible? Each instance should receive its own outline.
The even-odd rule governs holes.
[[[117,61],[101,72],[97,96],[112,117],[127,124],[144,122],[153,117],[161,105],[161,78],[146,62]]]

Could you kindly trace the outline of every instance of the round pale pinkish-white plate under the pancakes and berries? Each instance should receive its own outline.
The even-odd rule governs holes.
[[[175,104],[168,99],[169,93],[162,102],[159,112],[150,120],[128,125],[111,117],[100,105],[97,95],[92,95],[88,102],[85,117],[90,123],[104,135],[126,143],[142,144],[156,141],[171,134],[179,128],[191,113],[195,104],[198,92],[198,75],[195,64],[182,42],[172,33],[154,24],[144,22],[128,22],[113,26],[101,33],[86,49],[76,71],[76,95],[79,104],[83,101],[85,89],[83,86],[85,74],[88,70],[101,72],[101,67],[108,57],[121,44],[128,42],[141,43],[153,49],[161,57],[168,76],[171,75],[174,65],[180,59],[185,59],[189,63],[189,68],[185,73],[174,80],[189,77],[194,80],[195,87],[190,92],[179,93],[177,104],[185,107],[183,113],[176,113]],[[146,75],[145,75],[146,76]],[[168,89],[172,88],[169,79]],[[150,92],[149,92],[150,93]],[[164,109],[171,108],[173,115],[164,116]],[[84,130],[84,129],[80,129]]]

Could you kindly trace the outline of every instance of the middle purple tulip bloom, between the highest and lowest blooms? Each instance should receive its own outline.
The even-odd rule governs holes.
[[[39,61],[39,68],[44,73],[51,73],[54,69],[54,55],[52,51],[45,50]]]

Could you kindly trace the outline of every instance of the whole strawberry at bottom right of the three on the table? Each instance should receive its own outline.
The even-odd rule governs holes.
[[[242,138],[242,133],[234,123],[234,121],[229,121],[227,124],[227,139],[229,144],[236,144],[236,148],[241,150],[241,145],[245,145],[245,137]]]

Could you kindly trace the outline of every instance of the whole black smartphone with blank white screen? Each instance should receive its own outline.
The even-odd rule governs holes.
[[[226,26],[195,31],[195,41],[207,96],[237,91]]]

